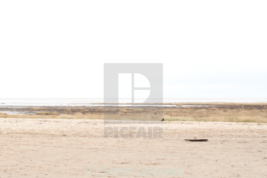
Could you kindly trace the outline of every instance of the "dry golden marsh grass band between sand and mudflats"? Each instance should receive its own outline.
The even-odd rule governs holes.
[[[28,108],[36,114],[6,114],[4,118],[66,118],[112,120],[267,122],[267,103],[172,103],[173,105],[206,105],[206,107],[87,107],[65,106]],[[208,106],[207,106],[208,105]]]

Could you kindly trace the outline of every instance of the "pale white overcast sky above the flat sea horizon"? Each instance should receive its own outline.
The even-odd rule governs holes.
[[[0,98],[102,98],[163,63],[164,98],[267,98],[267,1],[1,1]]]

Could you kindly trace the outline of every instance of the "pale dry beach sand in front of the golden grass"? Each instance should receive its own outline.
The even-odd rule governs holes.
[[[163,138],[103,138],[104,126],[162,127]],[[0,177],[122,177],[99,175],[100,165],[132,168],[124,177],[266,177],[266,132],[262,123],[0,118]],[[209,141],[184,141],[194,138]]]

